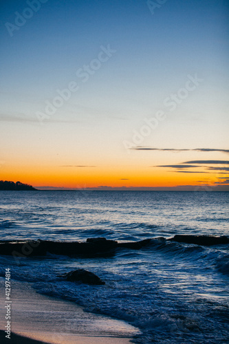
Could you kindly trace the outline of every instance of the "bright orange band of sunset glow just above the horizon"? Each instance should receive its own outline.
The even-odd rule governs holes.
[[[201,177],[200,177],[201,176]],[[65,188],[111,187],[163,187],[180,185],[199,185],[217,182],[216,173],[178,173],[164,171],[163,168],[127,166],[65,167],[65,166],[4,166],[1,169],[2,180],[23,182],[38,186]],[[201,181],[199,181],[201,180]]]

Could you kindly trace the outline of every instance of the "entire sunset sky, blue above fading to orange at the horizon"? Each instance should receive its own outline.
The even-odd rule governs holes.
[[[0,6],[0,180],[229,190],[228,1]]]

